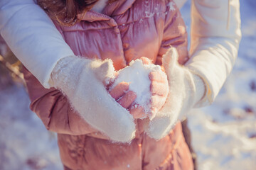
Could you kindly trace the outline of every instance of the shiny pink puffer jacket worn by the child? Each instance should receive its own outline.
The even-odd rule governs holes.
[[[102,13],[88,11],[72,27],[56,24],[75,55],[110,58],[118,70],[142,56],[161,64],[172,45],[181,64],[188,60],[186,26],[173,1],[119,0]],[[144,120],[135,120],[135,139],[130,144],[112,143],[80,119],[60,91],[44,89],[27,69],[24,77],[31,110],[48,130],[58,132],[60,157],[69,169],[193,169],[180,123],[156,141],[144,133]]]

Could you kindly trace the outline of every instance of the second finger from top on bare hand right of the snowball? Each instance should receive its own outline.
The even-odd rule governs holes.
[[[150,91],[153,95],[167,96],[169,92],[169,86],[168,84],[152,81],[150,84]]]

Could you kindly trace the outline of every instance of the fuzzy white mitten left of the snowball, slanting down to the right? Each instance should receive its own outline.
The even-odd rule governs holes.
[[[51,73],[50,84],[68,96],[80,116],[111,140],[129,142],[135,135],[132,115],[105,89],[114,78],[111,60],[64,57]]]

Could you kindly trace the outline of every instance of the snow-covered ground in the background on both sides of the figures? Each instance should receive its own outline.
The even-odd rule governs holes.
[[[189,126],[201,170],[256,169],[256,3],[241,3],[238,61],[212,106],[193,111]],[[182,9],[188,21],[189,3]],[[28,109],[22,86],[0,91],[0,169],[62,169],[55,134]]]

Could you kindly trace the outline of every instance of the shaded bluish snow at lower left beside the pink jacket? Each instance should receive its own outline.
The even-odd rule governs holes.
[[[61,169],[55,134],[29,108],[23,86],[0,91],[0,169]]]

